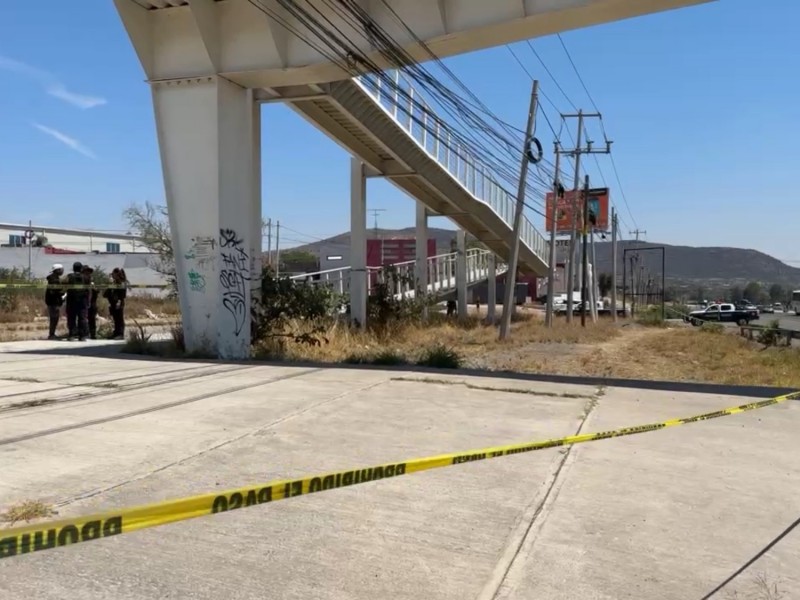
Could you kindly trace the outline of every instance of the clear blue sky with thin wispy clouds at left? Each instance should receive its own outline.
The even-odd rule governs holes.
[[[800,2],[720,0],[563,35],[614,140],[630,212],[608,158],[599,161],[626,230],[756,248],[800,266],[797,22]],[[533,45],[572,102],[591,110],[558,39]],[[527,46],[514,48],[571,111]],[[447,62],[524,126],[530,80],[505,47]],[[0,220],[124,229],[126,206],[163,202],[143,80],[110,0],[0,3]],[[542,121],[537,135],[552,147]],[[348,228],[348,155],[287,107],[264,107],[263,161],[264,215],[295,230],[287,245]],[[586,167],[599,183],[594,160]],[[391,184],[370,182],[368,194],[370,208],[386,209],[382,227],[413,224],[413,202]]]

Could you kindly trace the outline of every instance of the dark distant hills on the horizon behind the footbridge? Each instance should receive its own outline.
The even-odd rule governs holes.
[[[379,235],[385,238],[414,237],[413,227],[404,229],[379,229]],[[451,229],[428,229],[430,237],[436,240],[438,252],[447,252],[451,241],[455,240],[455,231]],[[368,231],[370,237],[375,230]],[[298,246],[296,250],[306,250],[319,255],[323,246],[350,245],[350,232],[341,233],[320,242]],[[761,283],[781,283],[800,289],[800,269],[791,267],[777,258],[758,250],[745,248],[724,248],[712,246],[673,246],[658,242],[636,242],[633,240],[619,243],[619,273],[622,276],[623,250],[635,247],[664,246],[667,279],[674,282],[697,282],[707,284],[734,285],[746,284],[750,281]],[[611,272],[611,243],[595,242],[598,271]],[[630,257],[630,253],[629,253]],[[659,252],[641,252],[641,263],[651,273],[661,273],[661,255]]]

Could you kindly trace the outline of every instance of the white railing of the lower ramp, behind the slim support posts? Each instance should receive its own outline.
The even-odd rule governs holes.
[[[482,281],[489,276],[489,257],[491,252],[472,248],[467,250],[467,285]],[[456,263],[457,252],[437,254],[428,257],[426,262],[426,277],[419,282],[419,287],[428,294],[443,294],[456,289]],[[367,267],[367,285],[372,289],[379,283],[388,283],[393,286],[391,290],[395,296],[413,297],[417,288],[416,261],[409,260],[389,265],[393,276],[384,267]],[[497,274],[506,270],[503,263],[495,266]],[[333,291],[346,295],[350,290],[350,267],[327,269],[315,273],[304,273],[290,277],[293,281],[308,283],[309,285],[326,285]]]

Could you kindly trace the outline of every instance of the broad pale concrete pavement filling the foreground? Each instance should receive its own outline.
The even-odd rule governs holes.
[[[42,499],[60,516],[747,401],[38,351],[0,354],[0,506]],[[0,590],[120,600],[699,599],[797,518],[798,419],[800,403],[783,404],[0,560]],[[800,532],[725,592],[746,590],[758,572],[800,596]]]

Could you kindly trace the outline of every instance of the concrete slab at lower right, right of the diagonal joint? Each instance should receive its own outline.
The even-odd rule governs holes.
[[[741,399],[616,390],[593,431],[735,406]],[[788,402],[573,448],[557,500],[498,600],[700,598],[792,523],[799,510],[800,404]],[[759,573],[800,597],[800,532],[731,584]],[[767,598],[767,596],[744,596]]]

